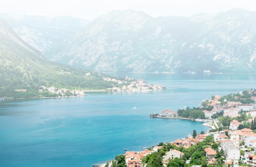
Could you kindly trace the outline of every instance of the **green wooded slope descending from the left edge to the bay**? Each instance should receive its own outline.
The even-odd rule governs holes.
[[[102,79],[106,75],[47,60],[1,18],[0,28],[0,97],[39,97],[38,89],[42,85],[68,90],[105,90],[112,86]],[[91,74],[86,76],[86,73]],[[15,89],[27,89],[27,92]],[[41,96],[44,94],[55,96],[49,93],[41,93]]]

